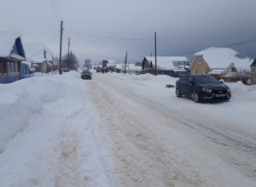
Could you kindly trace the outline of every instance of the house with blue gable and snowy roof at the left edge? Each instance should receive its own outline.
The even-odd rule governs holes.
[[[0,83],[15,82],[21,75],[21,61],[26,58],[20,33],[0,32]]]

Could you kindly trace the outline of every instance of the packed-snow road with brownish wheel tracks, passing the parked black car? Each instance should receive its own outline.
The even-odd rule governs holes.
[[[239,128],[231,116],[218,117],[218,111],[211,116],[218,107],[229,110],[229,103],[166,100],[143,84],[148,94],[140,92],[133,86],[137,83],[102,74],[90,82],[105,146],[116,164],[109,173],[117,186],[255,184],[255,132]]]

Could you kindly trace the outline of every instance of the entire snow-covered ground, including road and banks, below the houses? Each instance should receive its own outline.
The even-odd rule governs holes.
[[[0,84],[0,186],[255,186],[256,86],[177,98],[176,78],[79,72]]]

